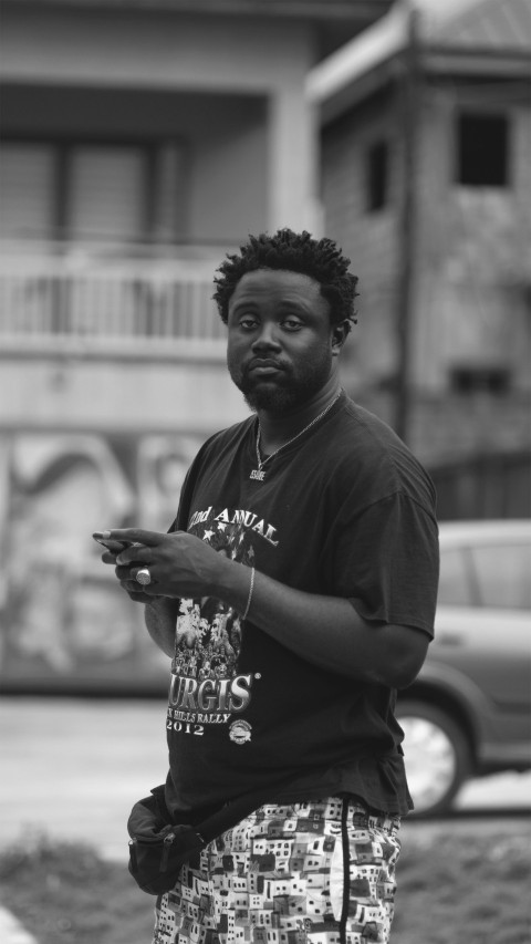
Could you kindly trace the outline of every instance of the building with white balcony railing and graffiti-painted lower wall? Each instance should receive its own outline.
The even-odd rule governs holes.
[[[4,686],[160,684],[91,532],[166,529],[198,445],[246,415],[214,270],[249,232],[319,228],[305,76],[388,7],[4,0]]]

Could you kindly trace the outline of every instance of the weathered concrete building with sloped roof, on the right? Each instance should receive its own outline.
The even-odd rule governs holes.
[[[524,452],[527,480],[530,0],[397,0],[308,94],[325,229],[361,277],[345,384],[430,468]],[[521,477],[507,501],[528,512]]]

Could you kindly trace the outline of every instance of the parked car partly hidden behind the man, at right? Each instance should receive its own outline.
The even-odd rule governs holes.
[[[531,768],[531,520],[441,522],[426,662],[397,716],[416,816],[470,777]]]

